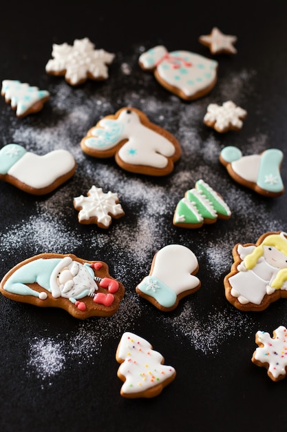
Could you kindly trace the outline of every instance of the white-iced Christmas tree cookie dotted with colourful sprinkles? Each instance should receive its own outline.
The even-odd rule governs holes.
[[[155,397],[176,377],[176,369],[164,364],[164,357],[147,340],[134,333],[123,333],[116,360],[118,377],[124,382],[123,397]]]

